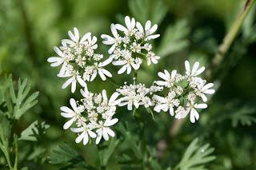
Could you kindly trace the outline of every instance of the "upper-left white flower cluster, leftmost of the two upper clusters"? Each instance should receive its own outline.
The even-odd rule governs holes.
[[[54,47],[58,57],[49,57],[47,60],[53,67],[62,65],[58,77],[69,77],[62,89],[71,84],[71,92],[74,93],[77,82],[86,88],[86,81],[93,81],[97,74],[102,81],[105,81],[106,77],[112,77],[112,74],[103,68],[111,61],[102,61],[103,55],[95,53],[98,48],[96,37],[86,33],[80,38],[77,28],[74,28],[74,34],[68,31],[68,35],[70,39],[63,39],[62,46]]]

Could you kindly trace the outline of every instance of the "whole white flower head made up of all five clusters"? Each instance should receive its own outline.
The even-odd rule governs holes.
[[[112,77],[105,69],[110,63],[121,66],[118,74],[137,73],[143,61],[148,65],[158,63],[160,57],[153,52],[150,44],[150,40],[160,36],[154,34],[158,26],[151,26],[151,22],[147,21],[143,27],[128,16],[125,23],[126,26],[111,24],[113,37],[102,34],[102,43],[111,45],[105,60],[102,54],[95,53],[97,38],[90,33],[80,37],[76,28],[74,33],[68,31],[70,39],[63,39],[59,48],[54,47],[58,57],[48,58],[51,66],[62,65],[58,77],[68,77],[62,89],[71,85],[71,92],[74,93],[77,84],[82,86],[82,99],[75,101],[71,98],[71,108],[61,107],[62,117],[69,119],[63,128],[78,133],[77,143],[82,141],[88,144],[92,138],[96,138],[98,144],[102,138],[109,140],[113,137],[115,133],[110,127],[118,123],[118,118],[114,117],[118,106],[127,105],[128,110],[144,106],[146,109],[153,108],[157,113],[169,112],[177,119],[190,115],[190,121],[194,123],[199,118],[198,109],[207,107],[206,94],[214,93],[214,89],[211,89],[214,84],[207,84],[206,80],[198,77],[205,68],[200,68],[198,62],[190,68],[189,61],[185,61],[186,73],[180,74],[177,70],[169,73],[164,69],[158,73],[162,80],[154,81],[150,87],[137,83],[137,77],[134,77],[133,84],[127,85],[125,82],[109,99],[105,89],[102,93],[90,92],[87,83],[94,81],[97,75],[102,81]]]

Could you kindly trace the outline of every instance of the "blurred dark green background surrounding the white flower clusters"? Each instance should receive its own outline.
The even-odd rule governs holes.
[[[243,3],[242,0],[0,0],[1,76],[12,73],[14,80],[28,77],[32,89],[40,93],[38,105],[22,117],[17,129],[22,131],[35,120],[50,125],[38,143],[33,143],[45,150],[38,153],[39,158],[25,158],[22,164],[29,169],[60,168],[59,164],[49,164],[47,156],[63,141],[76,148],[90,164],[97,164],[94,159],[96,146],[75,144],[74,133],[62,129],[66,120],[60,116],[59,108],[69,105],[73,94],[70,89],[61,89],[65,80],[56,77],[58,69],[51,68],[46,61],[55,55],[53,46],[67,38],[68,30],[76,26],[81,34],[90,31],[98,37],[98,50],[107,56],[106,47],[100,45],[100,34],[110,34],[110,23],[123,23],[125,15],[142,23],[147,19],[157,23],[161,38],[154,44],[156,53],[162,58],[158,65],[142,65],[138,72],[138,81],[150,85],[162,69],[184,71],[186,59],[200,61],[207,68]],[[215,148],[216,160],[208,164],[208,168],[256,169],[255,19],[254,6],[224,60],[213,68],[211,81],[217,93],[197,123],[186,120],[172,136],[170,128],[174,117],[155,113],[153,121],[144,109],[139,110],[145,121],[146,142],[155,148],[163,167],[178,164],[190,141],[199,137]],[[108,67],[111,73],[117,73],[116,67]],[[126,75],[114,74],[114,77],[120,85],[123,81],[132,81],[132,77]],[[90,84],[90,89],[114,92],[110,82],[99,79]],[[74,97],[81,96],[75,93]],[[125,109],[118,111],[118,117],[136,127],[131,113]],[[136,129],[133,132],[136,135]]]

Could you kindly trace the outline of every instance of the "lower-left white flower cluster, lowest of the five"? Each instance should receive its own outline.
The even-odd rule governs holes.
[[[102,139],[109,140],[110,136],[114,137],[114,131],[110,126],[118,122],[118,118],[113,118],[116,105],[120,103],[117,100],[119,93],[115,92],[108,100],[106,90],[102,93],[90,93],[87,89],[82,90],[82,100],[75,101],[70,99],[72,109],[62,106],[62,117],[69,118],[63,128],[70,128],[74,124],[76,127],[71,128],[72,132],[78,133],[76,142],[87,144],[90,138],[96,138],[96,144]]]

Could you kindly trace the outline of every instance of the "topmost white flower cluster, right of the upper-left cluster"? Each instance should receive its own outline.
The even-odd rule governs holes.
[[[158,38],[160,34],[154,34],[158,29],[155,24],[147,21],[145,27],[134,18],[126,16],[126,26],[121,24],[111,24],[110,29],[113,37],[102,34],[103,44],[111,45],[109,49],[110,58],[113,65],[122,65],[118,74],[126,72],[130,74],[131,69],[139,69],[142,61],[146,60],[148,65],[157,64],[158,57],[152,51],[151,39]]]

